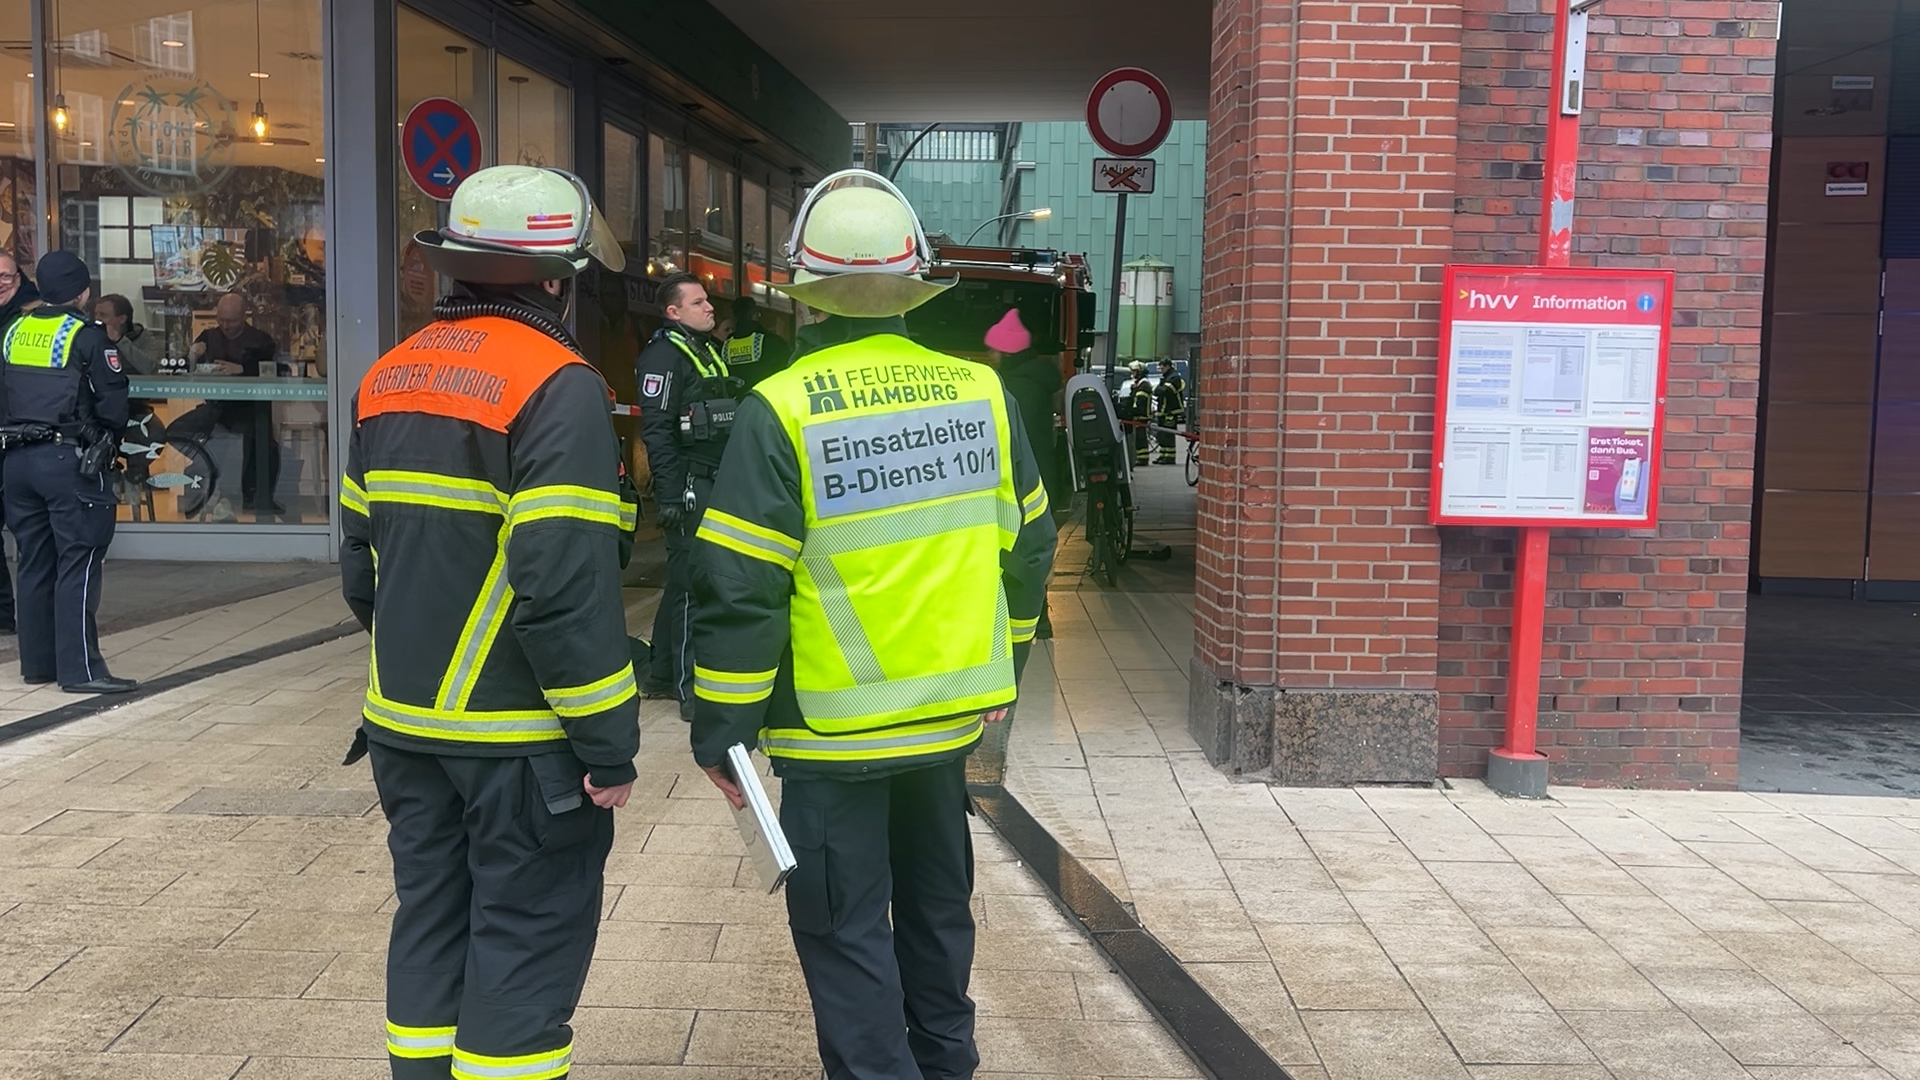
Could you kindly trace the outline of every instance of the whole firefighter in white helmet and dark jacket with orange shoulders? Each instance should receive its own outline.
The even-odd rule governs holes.
[[[449,221],[415,240],[453,294],[353,405],[340,577],[372,663],[348,761],[371,748],[390,826],[396,1080],[551,1080],[639,749],[636,507],[611,394],[564,329],[572,277],[626,259],[559,169],[482,169]]]

